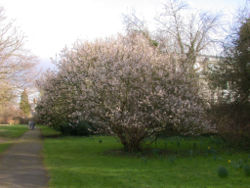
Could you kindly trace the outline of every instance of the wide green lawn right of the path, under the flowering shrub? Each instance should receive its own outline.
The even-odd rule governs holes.
[[[51,133],[48,128],[42,131]],[[121,149],[108,136],[45,138],[50,187],[250,187],[242,169],[250,163],[250,152],[226,147],[215,137],[160,139],[136,154]],[[218,177],[220,166],[228,177]]]

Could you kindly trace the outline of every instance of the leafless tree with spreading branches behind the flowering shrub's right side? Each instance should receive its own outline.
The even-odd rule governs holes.
[[[157,40],[164,52],[180,54],[184,70],[194,73],[197,56],[216,42],[219,22],[218,15],[190,12],[187,8],[181,0],[167,0],[164,11],[156,19]]]

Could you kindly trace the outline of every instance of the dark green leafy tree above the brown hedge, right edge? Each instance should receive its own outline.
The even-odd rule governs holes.
[[[240,21],[224,42],[224,58],[212,67],[213,89],[224,90],[220,102],[249,103],[250,94],[250,18]]]

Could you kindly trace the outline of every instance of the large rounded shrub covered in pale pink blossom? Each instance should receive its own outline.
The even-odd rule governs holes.
[[[169,127],[182,134],[205,128],[198,88],[178,56],[161,53],[143,35],[78,44],[57,66],[38,83],[37,112],[48,125],[88,121],[119,137],[127,151]]]

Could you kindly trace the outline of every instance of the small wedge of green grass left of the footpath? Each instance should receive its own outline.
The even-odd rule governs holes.
[[[0,125],[0,153],[5,151],[15,138],[28,130],[25,125]]]

